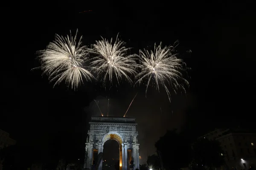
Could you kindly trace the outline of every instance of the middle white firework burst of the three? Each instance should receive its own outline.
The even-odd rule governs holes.
[[[125,48],[125,42],[116,37],[116,41],[113,42],[113,38],[109,42],[106,39],[96,41],[96,44],[92,45],[92,48],[88,48],[89,53],[96,55],[91,58],[91,66],[96,70],[98,79],[100,79],[104,85],[107,80],[113,85],[113,78],[117,80],[117,83],[125,78],[128,82],[132,83],[131,78],[136,74],[136,56],[127,55],[127,51],[130,48]]]

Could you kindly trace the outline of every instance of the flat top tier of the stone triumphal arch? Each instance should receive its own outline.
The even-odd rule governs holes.
[[[134,117],[92,116],[91,122],[135,123]]]

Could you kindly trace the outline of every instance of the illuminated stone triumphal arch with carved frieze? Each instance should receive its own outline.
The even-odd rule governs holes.
[[[110,139],[119,143],[119,170],[140,169],[135,118],[92,116],[89,125],[84,169],[102,170],[103,146]]]

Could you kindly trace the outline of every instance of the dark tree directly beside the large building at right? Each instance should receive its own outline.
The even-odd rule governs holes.
[[[224,151],[221,149],[218,141],[209,141],[203,138],[195,142],[192,148],[194,164],[209,168],[220,167],[224,164]],[[199,167],[198,169],[201,168]]]

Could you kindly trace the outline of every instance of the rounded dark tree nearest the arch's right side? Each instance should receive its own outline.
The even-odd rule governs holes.
[[[162,169],[177,170],[187,167],[191,161],[191,144],[176,130],[168,130],[156,142],[157,155],[160,158]]]

